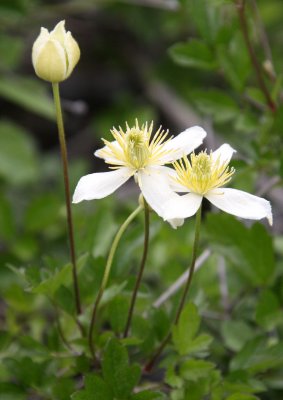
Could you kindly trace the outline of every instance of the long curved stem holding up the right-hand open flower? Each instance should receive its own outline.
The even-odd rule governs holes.
[[[183,295],[181,298],[181,301],[179,303],[178,309],[177,309],[177,313],[174,319],[174,325],[177,325],[179,322],[179,318],[181,316],[185,301],[186,301],[186,297],[188,294],[188,291],[191,287],[191,283],[192,283],[192,279],[193,279],[193,274],[194,274],[194,270],[195,270],[195,265],[196,265],[196,259],[197,259],[197,251],[198,251],[198,245],[199,245],[199,236],[200,236],[200,225],[201,225],[201,206],[197,211],[196,214],[196,222],[195,222],[195,238],[194,238],[194,243],[193,243],[193,252],[192,252],[192,261],[191,261],[191,265],[190,265],[190,269],[189,269],[189,275],[188,275],[188,279],[183,291]],[[153,357],[149,360],[149,362],[145,365],[144,367],[144,371],[145,372],[150,372],[151,369],[153,368],[156,360],[159,358],[160,354],[162,353],[164,347],[167,345],[167,343],[169,342],[170,338],[171,338],[171,334],[172,334],[172,328],[170,329],[170,331],[168,332],[167,336],[165,337],[165,339],[163,340],[163,342],[160,344],[160,346],[158,347],[158,349],[156,350],[156,352],[154,353]]]

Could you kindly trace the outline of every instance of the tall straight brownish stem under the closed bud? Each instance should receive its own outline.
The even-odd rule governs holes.
[[[68,154],[67,154],[67,146],[66,146],[66,140],[65,140],[62,109],[61,109],[59,84],[52,83],[52,89],[53,89],[53,97],[54,97],[54,103],[55,103],[55,109],[56,109],[58,135],[59,135],[59,143],[60,143],[61,158],[62,158],[62,165],[63,165],[65,202],[66,202],[66,210],[67,210],[67,225],[68,225],[68,235],[69,235],[69,244],[70,244],[70,256],[71,256],[71,262],[72,262],[72,274],[73,274],[76,312],[79,315],[79,314],[81,314],[81,301],[80,301],[80,291],[79,291],[77,264],[76,264],[73,218],[72,218],[72,210],[71,210],[70,183],[69,183],[69,171],[68,171]]]

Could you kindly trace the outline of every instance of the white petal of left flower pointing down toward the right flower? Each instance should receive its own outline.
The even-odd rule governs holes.
[[[169,186],[168,177],[162,168],[146,168],[138,172],[138,182],[142,194],[150,207],[163,217],[163,205],[171,198],[177,196]]]

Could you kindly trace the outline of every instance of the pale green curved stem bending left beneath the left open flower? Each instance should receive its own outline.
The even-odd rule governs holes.
[[[88,343],[89,343],[89,348],[92,354],[93,359],[95,359],[95,349],[94,349],[94,342],[93,342],[93,330],[94,330],[94,326],[95,326],[95,321],[96,321],[96,314],[97,314],[97,309],[101,300],[101,297],[104,293],[104,290],[107,286],[107,282],[108,282],[108,278],[109,278],[109,274],[111,271],[111,266],[112,266],[112,262],[113,262],[113,258],[118,246],[118,243],[123,235],[123,233],[125,232],[125,230],[127,229],[127,227],[129,226],[129,224],[132,222],[132,220],[138,215],[138,213],[143,209],[142,206],[139,206],[135,209],[135,211],[132,212],[132,214],[129,215],[129,217],[125,220],[125,222],[121,225],[120,229],[118,230],[118,232],[116,233],[116,236],[113,240],[112,246],[110,248],[109,254],[108,254],[108,258],[106,261],[106,266],[105,266],[105,270],[104,270],[104,275],[102,278],[102,282],[93,306],[93,311],[92,311],[92,317],[91,317],[91,322],[90,322],[90,328],[89,328],[89,335],[88,335]]]

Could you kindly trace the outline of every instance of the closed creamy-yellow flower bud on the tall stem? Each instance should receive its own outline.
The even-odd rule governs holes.
[[[64,81],[79,59],[79,46],[71,32],[66,32],[65,21],[59,22],[50,33],[41,28],[32,48],[32,63],[39,78],[52,83]]]

